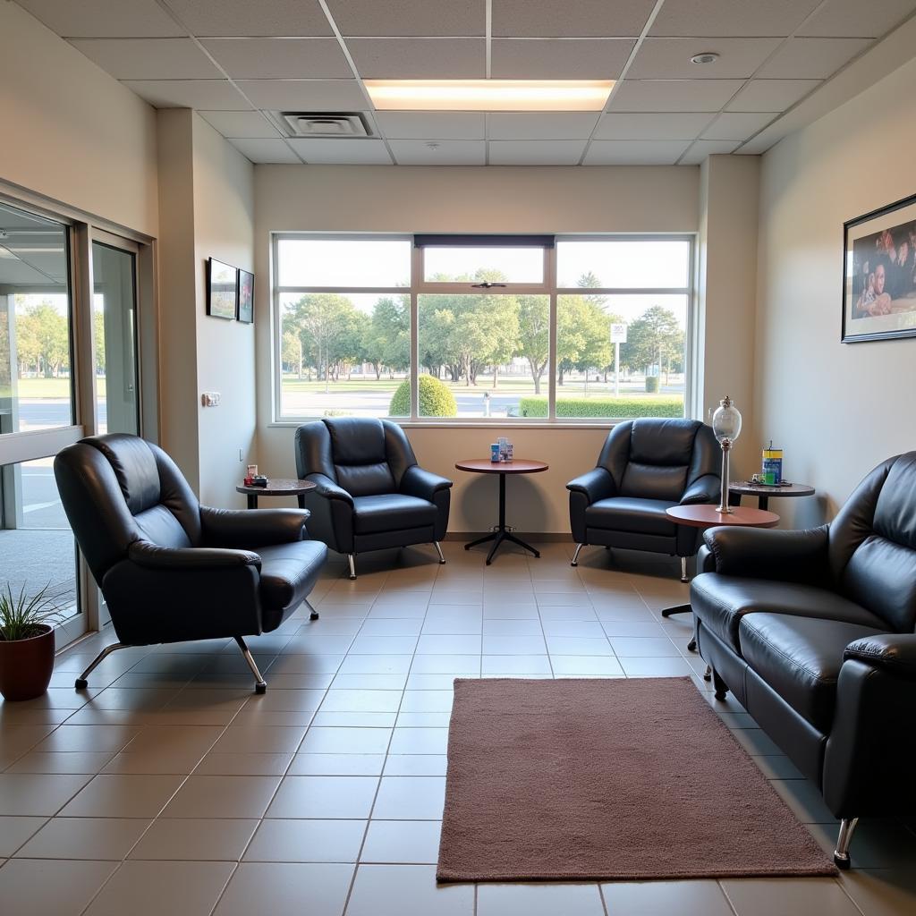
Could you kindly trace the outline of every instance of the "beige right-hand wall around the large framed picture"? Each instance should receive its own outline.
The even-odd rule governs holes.
[[[764,157],[755,433],[785,449],[789,525],[831,518],[889,455],[916,447],[916,341],[841,344],[843,224],[916,191],[916,60]]]

